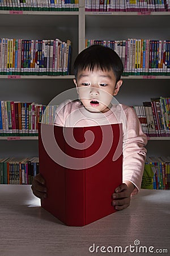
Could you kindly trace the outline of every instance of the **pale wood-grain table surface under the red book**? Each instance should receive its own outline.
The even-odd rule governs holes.
[[[0,192],[1,256],[170,255],[170,191],[142,189],[130,207],[83,227],[42,209],[30,185]]]

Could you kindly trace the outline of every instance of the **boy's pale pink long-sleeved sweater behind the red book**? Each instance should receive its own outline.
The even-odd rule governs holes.
[[[141,188],[146,159],[147,137],[133,108],[113,105],[105,113],[91,113],[78,100],[67,100],[57,108],[55,124],[59,126],[96,126],[122,123],[123,128],[123,181],[135,185],[133,195]]]

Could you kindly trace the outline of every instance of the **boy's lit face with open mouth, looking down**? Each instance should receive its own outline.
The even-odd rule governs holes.
[[[94,69],[79,71],[74,83],[78,88],[78,94],[83,106],[90,112],[105,113],[109,110],[113,96],[116,96],[122,80],[116,83],[113,71]]]

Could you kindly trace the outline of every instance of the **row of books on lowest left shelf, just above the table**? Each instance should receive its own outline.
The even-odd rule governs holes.
[[[39,158],[1,158],[0,184],[32,184],[39,174]]]

